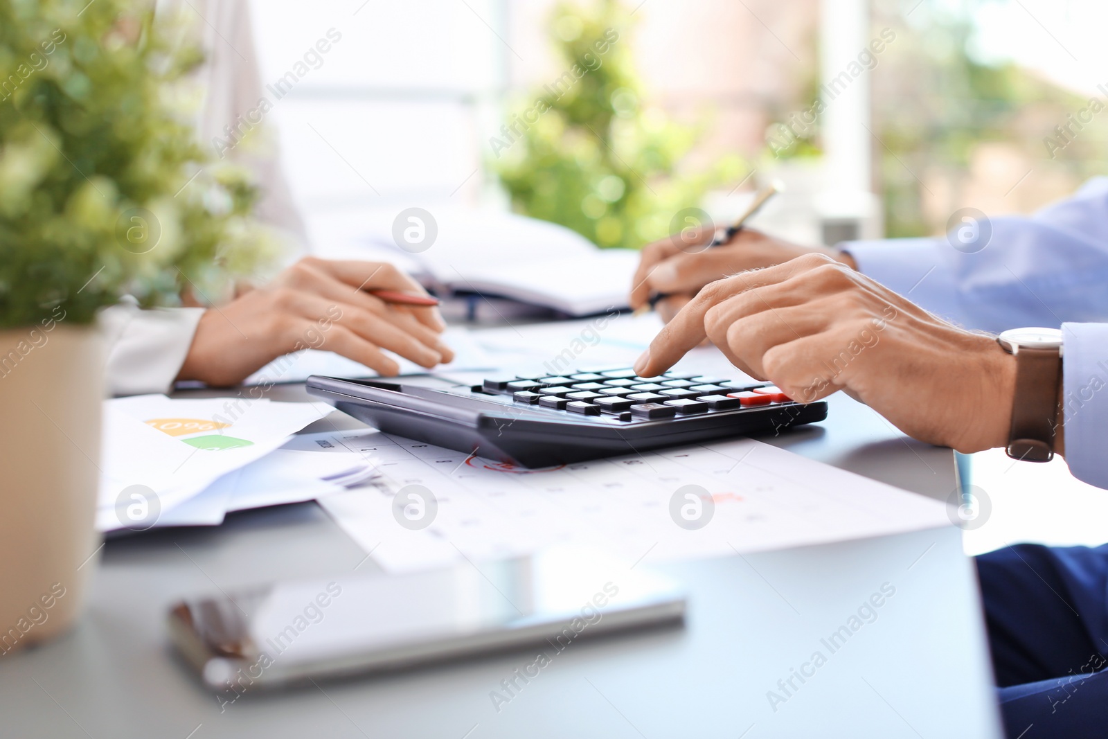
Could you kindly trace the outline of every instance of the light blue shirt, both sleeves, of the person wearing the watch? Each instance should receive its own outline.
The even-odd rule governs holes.
[[[989,235],[970,248],[956,233],[840,247],[863,274],[966,328],[1060,327],[1066,461],[1108,489],[1108,177],[1033,216],[976,227]]]

